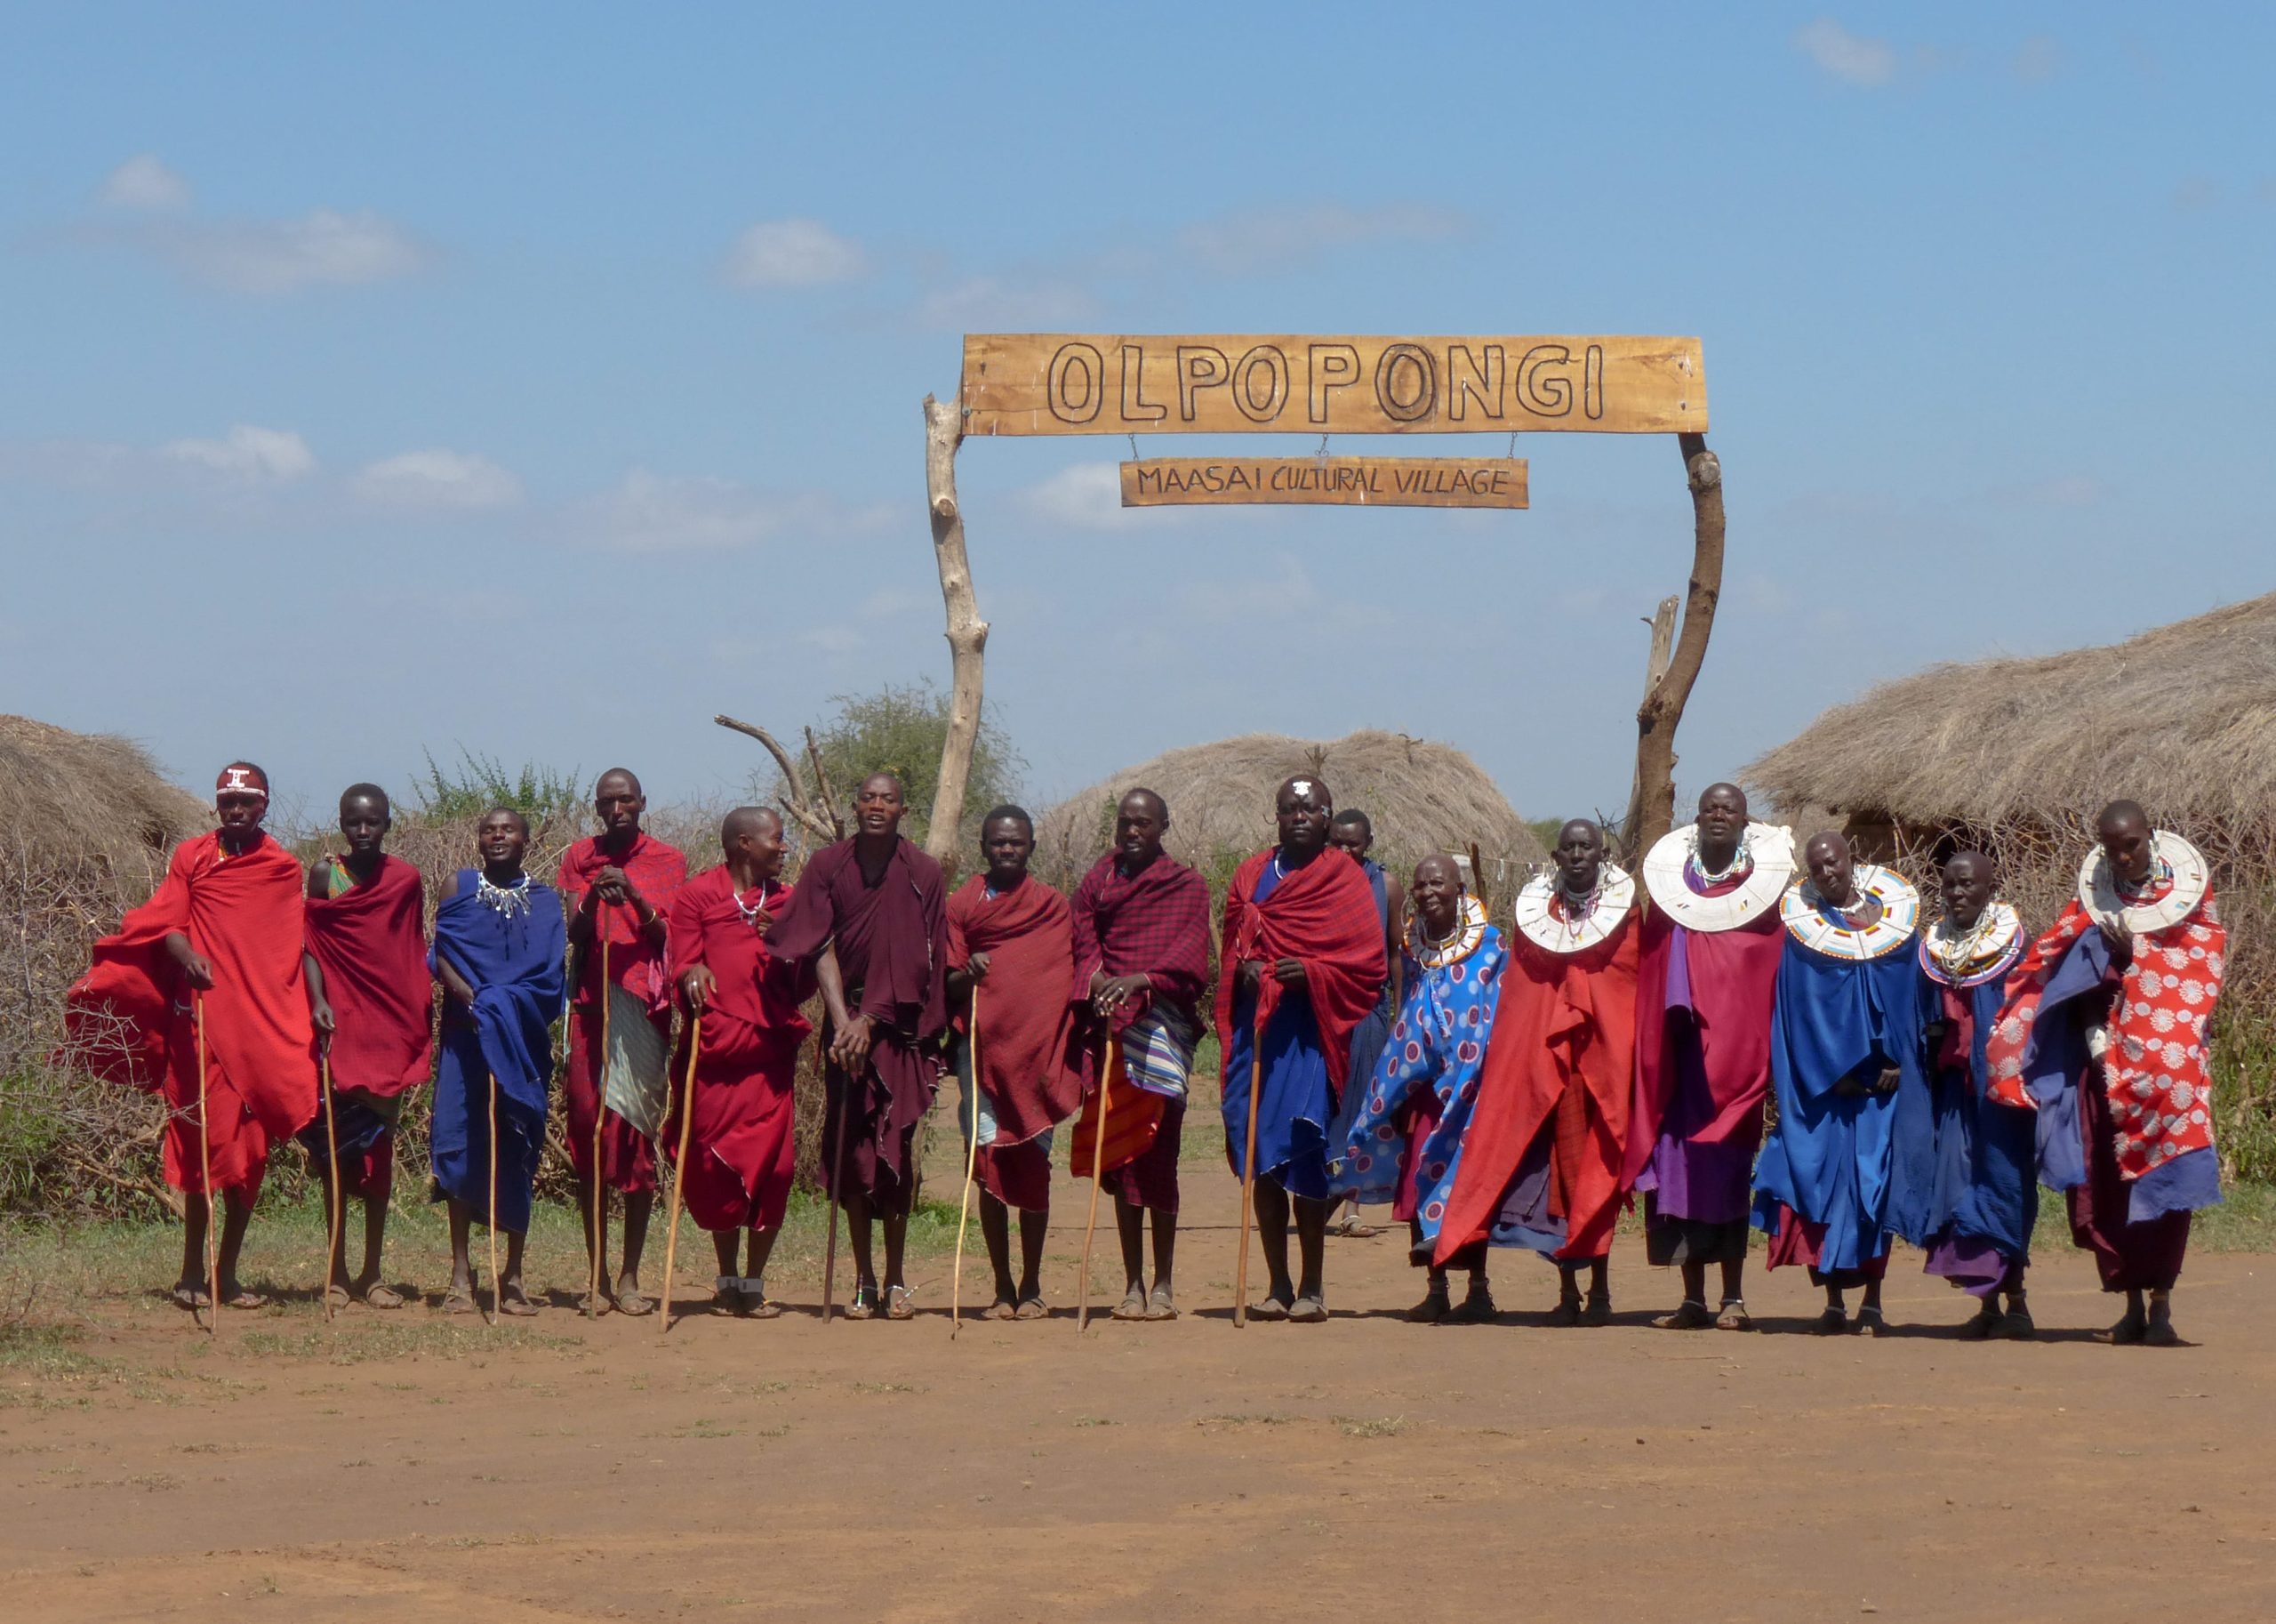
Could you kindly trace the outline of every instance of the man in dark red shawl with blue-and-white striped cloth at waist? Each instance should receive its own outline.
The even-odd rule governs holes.
[[[1170,809],[1154,790],[1115,806],[1115,850],[1074,888],[1074,998],[1090,1016],[1083,1043],[1108,1034],[1106,1075],[1074,1125],[1067,1171],[1092,1175],[1095,1112],[1106,1109],[1106,1189],[1122,1237],[1115,1319],[1177,1319],[1177,1157],[1186,1137],[1193,1050],[1209,986],[1209,881],[1168,856]],[[1154,1289],[1145,1285],[1145,1225],[1154,1225]]]

